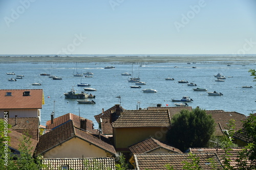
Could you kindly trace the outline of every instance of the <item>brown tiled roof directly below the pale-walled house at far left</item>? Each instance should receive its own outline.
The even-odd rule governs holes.
[[[3,118],[0,118],[3,119]],[[17,125],[15,125],[16,118],[9,117],[8,124],[10,124],[11,130],[18,133],[28,135],[32,139],[39,139],[39,118],[38,117],[17,117]]]

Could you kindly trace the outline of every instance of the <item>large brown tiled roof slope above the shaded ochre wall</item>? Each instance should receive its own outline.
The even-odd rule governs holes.
[[[120,117],[115,116],[113,119],[116,119],[114,128],[170,126],[168,110],[126,110],[121,112]]]

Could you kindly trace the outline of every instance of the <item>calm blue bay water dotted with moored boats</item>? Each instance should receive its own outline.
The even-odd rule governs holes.
[[[227,66],[221,63],[156,63],[139,66],[138,64],[114,64],[115,69],[103,69],[110,63],[78,63],[77,72],[91,71],[93,78],[74,77],[76,63],[0,63],[0,89],[44,89],[45,105],[41,109],[41,125],[45,125],[50,119],[51,112],[55,111],[55,117],[66,113],[79,114],[82,117],[93,120],[95,128],[98,127],[94,115],[109,109],[121,101],[125,109],[146,108],[149,106],[175,106],[171,99],[181,99],[182,96],[190,96],[194,102],[188,103],[193,108],[199,106],[206,110],[236,111],[245,115],[255,110],[256,83],[249,76],[249,69],[254,69],[255,64],[249,63],[231,64]],[[178,68],[175,68],[177,66]],[[196,66],[197,68],[192,68]],[[133,67],[133,71],[132,71]],[[7,79],[12,75],[6,72],[15,72],[16,75],[24,75],[23,79],[10,82]],[[39,76],[48,73],[61,77],[62,80],[52,80],[48,76]],[[140,77],[146,85],[142,88],[130,88],[134,83],[127,82],[130,76],[121,76],[121,73],[129,72],[134,77]],[[225,82],[215,82],[217,75],[226,76]],[[232,78],[227,78],[228,76]],[[165,78],[174,78],[174,81],[166,81]],[[178,83],[179,80],[194,82],[197,86],[187,86]],[[96,95],[96,104],[78,104],[76,99],[65,99],[63,93],[72,87],[83,91],[84,87],[77,87],[80,83],[89,83],[97,91],[91,93]],[[41,86],[32,86],[32,83],[41,83]],[[242,88],[242,86],[253,86],[253,88]],[[209,96],[206,91],[194,91],[193,88],[207,88],[208,91],[223,93],[222,96]],[[156,93],[143,93],[142,89],[156,89]],[[116,98],[120,96],[121,98]],[[55,101],[55,102],[54,102]],[[253,111],[254,113],[255,111]],[[157,115],[156,115],[157,116]]]

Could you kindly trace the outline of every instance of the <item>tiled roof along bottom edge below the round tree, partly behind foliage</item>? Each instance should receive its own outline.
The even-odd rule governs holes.
[[[136,169],[152,169],[152,170],[166,170],[165,165],[173,166],[174,169],[183,169],[184,163],[182,161],[191,161],[188,154],[135,154]],[[216,163],[217,167],[221,167],[216,154],[196,154],[200,158],[199,166],[202,169],[214,169],[209,164],[209,158]]]

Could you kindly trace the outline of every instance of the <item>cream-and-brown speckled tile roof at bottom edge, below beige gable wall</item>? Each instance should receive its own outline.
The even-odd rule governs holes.
[[[84,162],[88,163],[89,167],[97,164],[103,165],[104,167],[109,167],[110,169],[115,169],[115,158],[54,158],[54,159],[42,159],[43,164],[48,164],[49,168],[52,170],[61,169],[62,165],[69,165],[69,169],[82,170],[84,169]],[[102,170],[107,169],[101,167]],[[87,168],[88,169],[88,168]]]

